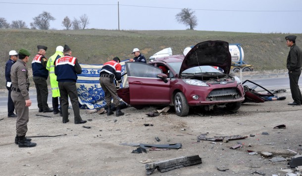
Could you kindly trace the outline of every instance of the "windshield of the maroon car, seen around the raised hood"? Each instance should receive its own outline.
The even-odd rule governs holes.
[[[169,65],[172,67],[172,69],[179,73],[180,67],[181,67],[182,62],[173,62],[169,63]],[[192,67],[190,69],[184,70],[182,74],[199,74],[199,73],[218,73],[218,74],[223,74],[222,71],[217,70],[211,66],[197,66],[197,67]]]

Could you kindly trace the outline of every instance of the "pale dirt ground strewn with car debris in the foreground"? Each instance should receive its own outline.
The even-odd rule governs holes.
[[[289,169],[288,161],[271,162],[268,159],[275,156],[291,158],[295,155],[292,151],[302,152],[302,106],[288,106],[287,103],[292,101],[291,94],[289,91],[278,94],[283,95],[287,97],[284,101],[247,103],[236,112],[217,109],[204,112],[202,116],[192,111],[187,117],[179,117],[171,108],[167,113],[149,117],[146,113],[162,108],[153,106],[141,110],[128,107],[122,110],[126,115],[120,117],[87,114],[82,109],[82,118],[92,121],[80,125],[74,124],[72,109],[69,109],[70,122],[63,124],[59,115],[39,113],[35,108],[30,110],[27,137],[64,136],[32,138],[33,142],[37,142],[37,146],[32,148],[19,148],[14,143],[15,118],[7,118],[7,112],[2,111],[0,175],[146,176],[145,164],[140,161],[150,159],[157,162],[199,155],[202,164],[166,173],[155,170],[151,176],[249,176],[255,171],[266,176],[285,176],[286,173],[280,170]],[[281,124],[285,124],[286,129],[273,129]],[[83,128],[83,125],[91,128]],[[262,135],[262,132],[269,135]],[[207,137],[242,135],[248,138],[227,143],[198,142],[197,137],[201,134],[207,134]],[[250,137],[251,134],[255,136]],[[156,141],[155,137],[161,141]],[[120,145],[122,142],[181,143],[182,148],[137,154],[131,153],[136,146]],[[230,148],[238,142],[243,146]],[[247,150],[257,154],[250,155]],[[273,155],[264,158],[261,152]],[[223,166],[229,170],[223,172],[216,169]]]

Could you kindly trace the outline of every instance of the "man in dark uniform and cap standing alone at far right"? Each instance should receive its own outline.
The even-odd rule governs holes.
[[[290,87],[292,92],[292,98],[294,102],[288,105],[300,106],[302,103],[302,94],[299,88],[299,77],[301,75],[302,67],[302,52],[301,49],[296,45],[295,35],[286,36],[286,45],[291,47],[290,52],[287,56],[286,67],[288,69],[288,75],[290,78]]]

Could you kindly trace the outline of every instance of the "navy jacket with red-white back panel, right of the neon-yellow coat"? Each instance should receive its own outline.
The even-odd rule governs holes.
[[[58,82],[76,82],[77,74],[82,73],[82,68],[77,58],[65,54],[54,62],[54,74]]]

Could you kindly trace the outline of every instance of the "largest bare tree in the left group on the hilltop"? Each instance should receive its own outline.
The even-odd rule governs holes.
[[[55,18],[51,16],[49,12],[44,11],[40,15],[34,17],[33,20],[34,27],[41,30],[48,30],[50,28],[50,21],[55,20]]]

